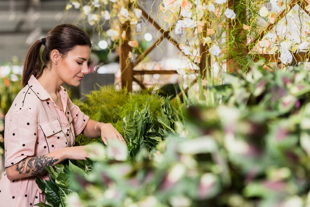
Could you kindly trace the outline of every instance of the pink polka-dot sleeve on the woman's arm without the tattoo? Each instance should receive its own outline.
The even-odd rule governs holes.
[[[87,125],[87,122],[89,120],[89,116],[85,115],[81,109],[72,103],[72,101],[68,98],[68,108],[72,115],[72,123],[74,128],[75,135],[81,134],[81,132],[84,130],[84,128]]]

